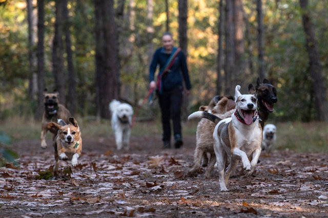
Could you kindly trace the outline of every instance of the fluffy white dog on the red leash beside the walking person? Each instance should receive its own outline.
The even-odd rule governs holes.
[[[109,104],[112,113],[112,129],[118,150],[129,149],[133,108],[130,104],[112,100]]]

